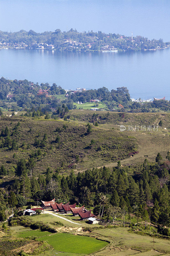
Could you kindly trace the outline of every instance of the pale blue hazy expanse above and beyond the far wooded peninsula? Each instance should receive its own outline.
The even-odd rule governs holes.
[[[170,0],[0,0],[0,30],[98,31],[170,41]]]

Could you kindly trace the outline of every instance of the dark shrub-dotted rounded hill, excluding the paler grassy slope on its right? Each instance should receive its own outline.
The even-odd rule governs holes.
[[[20,122],[18,134],[13,134],[14,126]],[[127,136],[120,131],[92,125],[92,132],[87,134],[87,123],[67,122],[63,120],[45,120],[31,118],[4,118],[0,120],[1,129],[7,126],[10,138],[17,140],[18,148],[3,147],[0,149],[0,161],[8,168],[14,167],[21,157],[27,158],[33,151],[41,150],[37,157],[36,171],[45,171],[48,167],[52,169],[88,168],[92,165],[117,161],[123,159],[137,148],[136,138]],[[64,128],[63,128],[64,126]],[[43,146],[35,146],[35,140],[40,142],[43,135],[47,134],[47,140]],[[59,137],[59,143],[55,142]],[[90,146],[91,140],[95,144]],[[0,143],[3,144],[4,137]],[[3,144],[4,145],[4,144]],[[11,147],[11,145],[10,145]],[[44,155],[46,152],[46,155]],[[13,158],[13,154],[16,158]],[[76,160],[78,157],[78,160]],[[77,163],[76,163],[77,162]]]

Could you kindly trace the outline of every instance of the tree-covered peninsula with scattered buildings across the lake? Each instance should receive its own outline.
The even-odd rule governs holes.
[[[70,47],[69,40],[76,41],[79,44],[76,44],[76,47]],[[53,44],[55,49],[58,50],[82,50],[82,51],[99,51],[101,47],[105,45],[113,45],[119,50],[127,51],[137,51],[143,49],[156,49],[157,47],[163,48],[169,43],[164,43],[162,39],[149,40],[142,36],[133,37],[131,36],[121,36],[119,34],[106,34],[101,31],[84,31],[78,32],[76,29],[70,29],[68,32],[61,31],[56,29],[54,32],[45,31],[43,33],[36,33],[33,30],[25,31],[20,30],[18,32],[3,32],[0,31],[0,42],[12,44],[27,44],[28,47],[31,47],[33,43],[44,43],[44,44]],[[91,48],[87,47],[87,44],[92,44]],[[72,45],[71,45],[72,46]],[[47,47],[48,49],[48,47]]]

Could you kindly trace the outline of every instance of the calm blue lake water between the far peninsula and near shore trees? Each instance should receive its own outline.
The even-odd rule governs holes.
[[[0,76],[64,89],[126,86],[132,98],[170,100],[170,48],[140,52],[0,49]]]

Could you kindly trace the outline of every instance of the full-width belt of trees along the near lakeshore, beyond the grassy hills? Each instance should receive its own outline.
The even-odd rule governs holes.
[[[58,95],[63,96],[60,98],[57,97]],[[157,112],[158,109],[168,112],[170,110],[170,101],[168,100],[154,100],[145,103],[132,102],[129,91],[124,86],[111,91],[102,87],[82,92],[74,91],[74,93],[69,91],[66,94],[65,90],[56,84],[50,86],[48,83],[34,84],[26,79],[7,80],[4,77],[0,79],[0,107],[12,108],[14,111],[26,110],[26,116],[36,117],[48,113],[61,117],[59,112],[60,109],[62,111],[63,105],[65,105],[65,110],[75,109],[77,108],[74,105],[75,102],[85,103],[93,100],[100,100],[106,104],[109,110],[116,109],[120,112]],[[98,102],[94,104],[95,107],[98,107]],[[0,115],[2,115],[1,112],[0,108]]]

